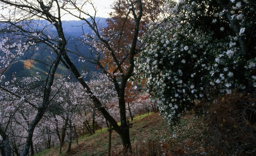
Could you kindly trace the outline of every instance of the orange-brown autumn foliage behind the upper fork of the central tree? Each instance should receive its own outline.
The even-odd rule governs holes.
[[[147,31],[149,22],[157,21],[161,17],[162,10],[159,8],[164,5],[164,1],[162,0],[145,0],[142,3],[143,16],[140,22],[138,37],[141,37]],[[138,5],[134,6],[138,7]],[[125,0],[116,1],[112,5],[112,9],[114,11],[109,14],[111,18],[106,20],[108,26],[103,29],[103,36],[110,36],[109,41],[111,42],[111,48],[115,50],[116,59],[120,63],[122,70],[126,71],[129,67],[129,49],[133,40],[135,21],[132,18],[132,11],[129,11],[129,4]],[[135,8],[135,11],[137,10],[139,8]],[[141,46],[143,44],[138,41],[136,49],[140,49]],[[104,52],[104,56],[100,60],[100,63],[107,67],[108,73],[118,73],[119,70],[111,55],[111,51],[108,51],[106,48],[101,50]]]

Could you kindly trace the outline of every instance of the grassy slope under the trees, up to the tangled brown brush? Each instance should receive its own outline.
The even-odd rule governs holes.
[[[175,133],[177,138],[173,138],[173,132],[168,128],[167,123],[158,113],[145,114],[137,116],[130,129],[131,142],[133,149],[138,148],[141,144],[147,148],[148,143],[153,141],[154,144],[168,144],[167,150],[174,155],[183,155],[186,153],[197,153],[200,155],[202,152],[209,149],[207,143],[207,133],[205,123],[202,118],[196,118],[193,114],[186,115],[181,119],[181,126],[176,127]],[[138,146],[139,145],[139,146]],[[156,145],[153,145],[156,146]],[[165,145],[166,146],[166,145]],[[93,155],[106,155],[108,147],[108,132],[107,129],[97,130],[94,135],[87,135],[79,138],[79,144],[76,145],[74,141],[70,153],[65,153],[67,144],[62,147],[62,154],[65,156],[93,156]],[[153,147],[150,147],[153,148]],[[112,151],[121,152],[122,143],[121,139],[116,132],[112,133]],[[150,149],[149,149],[150,150]],[[210,152],[210,151],[209,151]],[[45,150],[38,153],[36,156],[57,156],[59,153],[59,146]],[[117,154],[118,155],[118,154]]]

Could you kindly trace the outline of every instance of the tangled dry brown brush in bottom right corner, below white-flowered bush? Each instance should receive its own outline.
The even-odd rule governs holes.
[[[229,94],[209,108],[208,121],[215,155],[256,155],[256,97]]]

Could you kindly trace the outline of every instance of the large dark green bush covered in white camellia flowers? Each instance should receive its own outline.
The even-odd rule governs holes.
[[[149,26],[138,74],[170,126],[211,93],[255,91],[256,2],[167,1],[169,17]],[[142,73],[142,74],[141,74]]]

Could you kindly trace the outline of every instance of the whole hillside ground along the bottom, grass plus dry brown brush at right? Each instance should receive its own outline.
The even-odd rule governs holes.
[[[238,100],[237,100],[238,99]],[[247,99],[247,100],[246,100]],[[219,102],[218,102],[219,101]],[[241,102],[246,103],[241,105]],[[250,102],[248,102],[250,101]],[[166,121],[158,115],[158,113],[151,115],[142,115],[132,122],[133,127],[130,129],[130,137],[132,142],[133,153],[129,156],[220,156],[236,154],[253,155],[254,153],[245,150],[245,145],[250,149],[255,147],[253,139],[255,137],[245,128],[250,127],[250,132],[255,134],[254,116],[248,116],[247,108],[254,103],[254,98],[251,97],[224,97],[215,101],[210,107],[209,116],[196,117],[194,112],[188,112],[187,115],[181,118],[179,126],[174,127],[174,132],[171,131]],[[240,103],[239,103],[240,102]],[[239,106],[239,107],[238,107]],[[238,109],[239,108],[239,109]],[[255,107],[254,107],[255,108]],[[216,110],[218,110],[217,113]],[[239,111],[238,111],[239,110]],[[230,113],[233,112],[233,113]],[[239,113],[240,112],[240,113]],[[241,114],[241,112],[243,112]],[[246,113],[247,112],[247,113]],[[234,120],[232,115],[240,115],[240,118]],[[243,116],[243,117],[241,117]],[[241,122],[240,119],[247,119]],[[254,118],[254,119],[252,119]],[[231,120],[232,119],[232,120]],[[239,121],[239,120],[240,121]],[[250,119],[250,120],[248,120]],[[211,122],[209,124],[209,122]],[[236,126],[234,126],[236,125]],[[249,126],[250,125],[250,126]],[[228,126],[228,127],[227,127]],[[242,128],[242,130],[239,130]],[[234,132],[233,132],[234,131]],[[232,132],[232,133],[230,133]],[[236,133],[235,133],[236,132]],[[246,132],[246,133],[245,133]],[[177,134],[173,138],[173,134]],[[243,135],[242,135],[243,134]],[[246,136],[244,136],[244,134]],[[232,138],[233,140],[231,140]],[[239,138],[241,137],[241,138]],[[251,138],[250,138],[251,137]],[[239,138],[240,142],[234,142]],[[247,139],[247,141],[243,141]],[[251,139],[249,143],[248,139]],[[238,143],[237,146],[234,143]],[[243,143],[243,144],[240,144]],[[245,143],[245,144],[244,144]],[[246,144],[247,143],[247,144]],[[226,146],[228,145],[228,146]],[[233,145],[230,146],[230,145]],[[108,132],[103,129],[102,132],[98,130],[96,134],[85,136],[79,139],[79,145],[75,141],[71,147],[71,152],[65,153],[67,145],[63,146],[63,156],[96,156],[107,155],[108,146]],[[229,148],[228,148],[229,147]],[[232,147],[232,148],[230,148]],[[234,152],[233,148],[243,152]],[[122,155],[123,147],[121,139],[116,132],[112,133],[112,156]],[[236,151],[237,151],[236,149]],[[50,150],[44,156],[57,156],[59,149]]]

